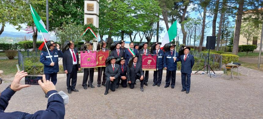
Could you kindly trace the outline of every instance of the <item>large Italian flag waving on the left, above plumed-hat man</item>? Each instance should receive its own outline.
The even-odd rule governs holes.
[[[31,5],[30,5],[30,11],[31,11],[35,26],[36,26],[38,32],[42,34],[42,37],[45,41],[39,47],[39,50],[42,50],[42,48],[44,47],[46,42],[49,41],[50,34],[46,30],[46,26],[45,26],[44,22],[41,20],[41,18],[39,17],[39,15],[36,13],[35,9]]]

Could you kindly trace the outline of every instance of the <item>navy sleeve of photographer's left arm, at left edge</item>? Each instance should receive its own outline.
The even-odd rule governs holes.
[[[8,101],[11,97],[15,94],[15,91],[11,90],[10,88],[5,89],[0,96],[0,109],[5,111],[6,107],[8,106]]]

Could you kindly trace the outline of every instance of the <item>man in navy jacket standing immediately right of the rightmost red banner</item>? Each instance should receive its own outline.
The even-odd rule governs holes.
[[[153,86],[160,87],[162,82],[162,74],[163,74],[163,56],[164,52],[160,49],[161,43],[155,43],[155,50],[153,51],[154,55],[157,55],[157,62],[156,62],[156,71],[154,71],[154,84]]]

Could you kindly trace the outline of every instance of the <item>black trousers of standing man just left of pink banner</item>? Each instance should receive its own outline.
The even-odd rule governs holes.
[[[74,65],[72,68],[71,73],[67,74],[67,89],[75,89],[77,84],[77,74],[78,74],[78,65]],[[70,79],[71,79],[71,86],[70,86]]]

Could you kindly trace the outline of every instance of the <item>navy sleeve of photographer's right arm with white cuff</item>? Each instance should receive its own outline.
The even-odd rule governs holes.
[[[48,97],[57,93],[56,90],[50,90],[47,92]],[[65,105],[63,98],[59,94],[53,94],[48,98],[46,110],[39,110],[34,114],[25,113],[23,118],[34,118],[34,119],[64,119],[65,117]]]

